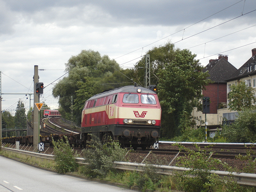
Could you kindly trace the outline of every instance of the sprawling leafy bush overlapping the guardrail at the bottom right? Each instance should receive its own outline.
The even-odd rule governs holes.
[[[210,158],[210,153],[207,150],[200,149],[197,145],[195,147],[198,151],[193,151],[188,148],[180,146],[186,150],[188,155],[179,157],[180,162],[176,165],[190,168],[185,172],[176,172],[173,177],[177,183],[176,188],[184,192],[243,192],[255,191],[255,188],[240,186],[230,174],[231,178],[221,178],[216,174],[212,174],[209,170],[218,170],[220,166],[226,171],[233,172],[232,167],[228,164],[222,163],[218,159]],[[208,147],[205,147],[208,148]],[[193,177],[189,177],[193,175]]]

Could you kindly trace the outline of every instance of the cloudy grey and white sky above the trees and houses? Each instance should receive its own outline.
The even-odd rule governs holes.
[[[19,99],[29,108],[25,93],[33,93],[35,65],[44,69],[40,101],[58,108],[52,87],[81,50],[133,67],[170,41],[203,66],[223,54],[239,68],[256,48],[255,0],[0,0],[0,10],[2,110],[12,113]]]

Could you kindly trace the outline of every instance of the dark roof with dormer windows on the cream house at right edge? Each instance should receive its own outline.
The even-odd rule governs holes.
[[[246,61],[244,65],[242,65],[242,67],[237,69],[236,72],[227,79],[227,81],[240,79],[249,75],[250,76],[255,75],[256,74],[255,65],[256,65],[256,56],[254,55],[248,61]],[[249,72],[248,72],[248,67],[250,69]]]

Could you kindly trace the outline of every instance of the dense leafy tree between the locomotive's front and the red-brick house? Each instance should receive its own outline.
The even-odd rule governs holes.
[[[195,123],[191,112],[194,107],[201,108],[202,89],[211,82],[195,54],[176,49],[172,55],[157,73],[163,134],[169,137],[180,136]]]

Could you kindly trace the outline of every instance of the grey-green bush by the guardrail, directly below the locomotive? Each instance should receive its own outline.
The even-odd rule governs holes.
[[[82,151],[82,157],[85,163],[85,175],[90,177],[105,177],[109,171],[115,171],[113,162],[124,161],[126,149],[121,148],[120,144],[111,138],[106,143],[92,135],[93,140],[88,145],[90,148]]]

